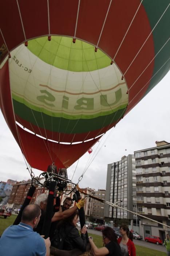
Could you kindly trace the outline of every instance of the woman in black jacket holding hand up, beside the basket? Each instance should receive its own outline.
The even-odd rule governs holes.
[[[74,248],[78,248],[80,251],[86,251],[86,231],[87,228],[83,227],[80,232],[81,236],[79,235],[79,231],[76,228],[76,223],[78,221],[78,212],[74,212],[70,217],[63,219],[59,222],[56,235],[54,240],[52,240],[52,246],[70,251]],[[57,242],[57,240],[59,242]]]

